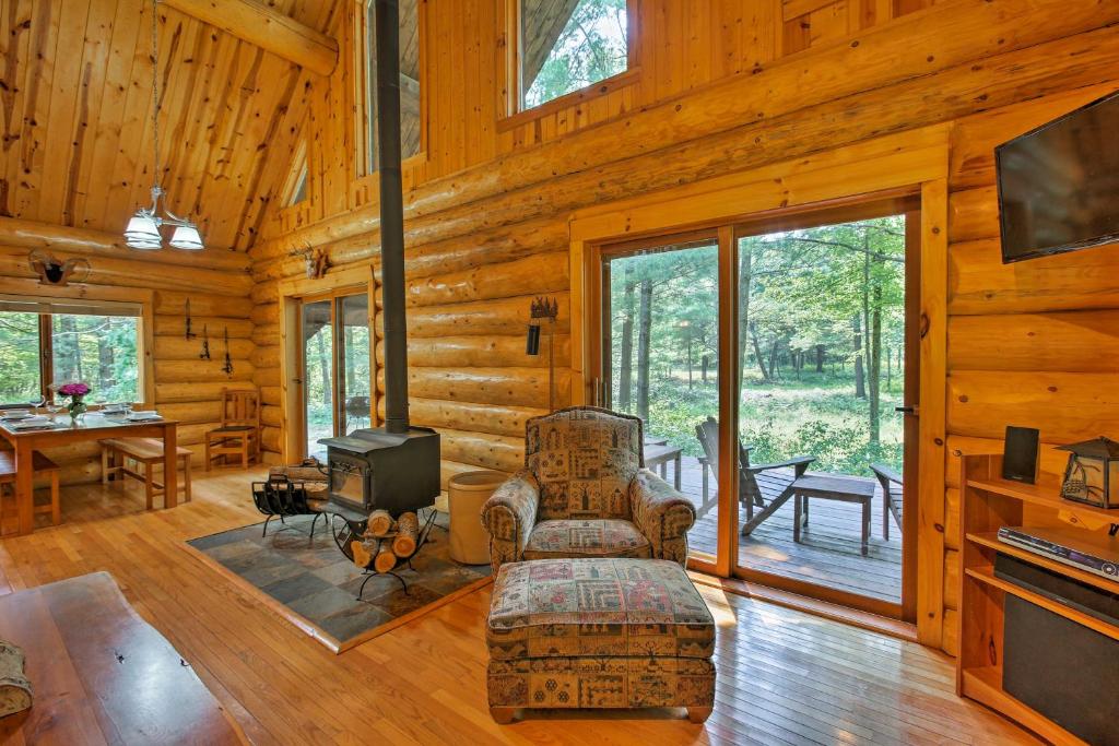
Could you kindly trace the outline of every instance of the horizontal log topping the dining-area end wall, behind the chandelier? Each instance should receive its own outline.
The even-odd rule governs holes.
[[[124,226],[121,226],[121,230]],[[184,252],[168,248],[161,252],[138,252],[124,245],[120,234],[91,230],[88,228],[72,228],[69,226],[23,220],[21,218],[0,217],[0,246],[10,249],[41,249],[47,254],[66,254],[114,259],[133,259],[189,266],[205,270],[245,273],[248,271],[248,256],[242,252],[227,248],[206,248],[200,252]],[[59,256],[58,258],[63,258]]]

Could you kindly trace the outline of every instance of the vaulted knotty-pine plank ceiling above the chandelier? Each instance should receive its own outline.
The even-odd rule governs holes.
[[[267,0],[329,32],[340,0]],[[117,233],[152,185],[150,0],[0,3],[0,216]],[[245,249],[290,169],[308,76],[159,6],[169,208]]]

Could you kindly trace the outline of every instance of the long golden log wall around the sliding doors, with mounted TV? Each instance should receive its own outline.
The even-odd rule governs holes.
[[[425,3],[427,151],[406,168],[412,415],[444,434],[444,476],[520,459],[524,419],[546,406],[542,359],[521,351],[529,299],[572,309],[573,210],[950,123],[947,545],[929,640],[956,650],[958,456],[997,451],[1006,424],[1054,443],[1119,425],[1108,365],[1119,319],[1119,249],[1004,266],[993,148],[1119,87],[1119,6],[1094,0],[673,2],[642,0],[640,70],[626,86],[538,116],[500,115],[496,3]],[[344,47],[352,38],[339,36]],[[375,185],[356,178],[349,77],[312,84],[312,195],[273,210],[251,249],[254,362],[279,365],[276,282],[288,253],[376,264]],[[577,317],[579,314],[576,314]],[[265,444],[280,389],[261,374]],[[561,403],[572,381],[560,377]],[[939,461],[938,455],[938,461]],[[940,586],[938,580],[947,585]]]

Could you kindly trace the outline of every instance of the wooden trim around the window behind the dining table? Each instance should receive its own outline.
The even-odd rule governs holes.
[[[15,287],[11,287],[15,285]],[[25,290],[26,289],[26,290]],[[60,300],[73,300],[77,301],[76,305],[84,305],[87,308],[104,308],[105,315],[129,315],[137,319],[137,358],[139,363],[139,370],[137,371],[137,394],[142,397],[140,402],[134,402],[133,404],[139,405],[153,405],[156,402],[156,371],[153,362],[153,350],[156,343],[156,332],[154,332],[154,303],[156,293],[150,290],[131,290],[131,289],[103,289],[95,287],[91,285],[83,285],[81,287],[64,286],[51,289],[51,295],[41,295],[41,285],[32,280],[26,281],[11,281],[4,283],[2,290],[2,295],[10,300],[18,300],[28,303],[44,303],[44,304],[58,304]],[[129,308],[132,311],[139,311],[139,313],[121,314],[114,313],[114,311],[121,311],[123,308]],[[50,355],[50,341],[51,337],[46,337],[48,344],[44,346],[43,340],[43,329],[44,320],[47,317],[40,314],[39,317],[39,390],[43,396],[47,396],[50,386],[51,377],[45,374],[53,372],[50,366],[53,363],[53,358],[47,361],[46,370],[44,369],[44,355]],[[0,408],[11,408],[19,406],[27,406],[28,403],[0,403]]]

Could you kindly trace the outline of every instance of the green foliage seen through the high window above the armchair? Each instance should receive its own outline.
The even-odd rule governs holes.
[[[526,17],[524,35],[535,19]],[[627,68],[626,0],[581,0],[556,39],[540,72],[526,81],[526,108],[538,106]]]

